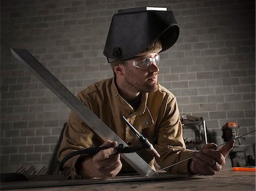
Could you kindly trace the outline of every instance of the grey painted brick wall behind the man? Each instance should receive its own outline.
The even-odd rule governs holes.
[[[255,1],[2,0],[1,168],[48,167],[69,108],[10,54],[26,48],[77,94],[113,76],[102,54],[118,9],[167,6],[180,26],[177,43],[161,54],[159,82],[180,112],[203,117],[209,138],[221,126],[255,129]],[[255,134],[240,150],[253,155]]]

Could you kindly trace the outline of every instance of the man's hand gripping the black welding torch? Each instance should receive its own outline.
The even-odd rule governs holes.
[[[106,141],[101,147],[108,146],[105,150],[101,150],[92,158],[81,158],[77,160],[76,169],[80,175],[86,177],[102,177],[110,178],[117,175],[122,168],[120,155],[116,154],[117,142]]]

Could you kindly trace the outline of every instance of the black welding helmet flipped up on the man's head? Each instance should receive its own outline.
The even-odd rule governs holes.
[[[119,10],[113,15],[103,53],[109,63],[129,60],[155,41],[160,41],[163,52],[175,44],[178,36],[179,26],[166,7]]]

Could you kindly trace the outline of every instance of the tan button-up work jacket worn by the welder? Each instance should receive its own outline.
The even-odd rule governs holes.
[[[142,93],[141,104],[136,111],[118,93],[114,78],[97,82],[77,96],[123,141],[128,145],[137,145],[138,138],[121,118],[125,116],[148,141],[154,144],[160,154],[160,158],[156,159],[160,167],[166,167],[192,156],[193,151],[185,149],[176,97],[160,84],[158,91]],[[58,154],[59,160],[83,147],[100,146],[102,143],[102,139],[71,111]],[[155,159],[148,151],[141,151],[139,155],[153,169],[155,168]],[[75,156],[64,165],[65,174],[72,179],[81,178],[75,169],[78,158],[79,156]],[[122,163],[122,172],[130,172],[131,167],[124,161]],[[188,161],[170,168],[169,171],[188,173],[187,165]]]

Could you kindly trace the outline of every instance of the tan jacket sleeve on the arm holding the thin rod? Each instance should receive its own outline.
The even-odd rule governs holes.
[[[156,162],[162,168],[187,159],[194,152],[185,147],[176,97],[168,97],[164,111],[163,119],[156,131],[155,145],[160,154],[160,158],[156,159]],[[188,160],[168,168],[167,171],[188,174]]]

